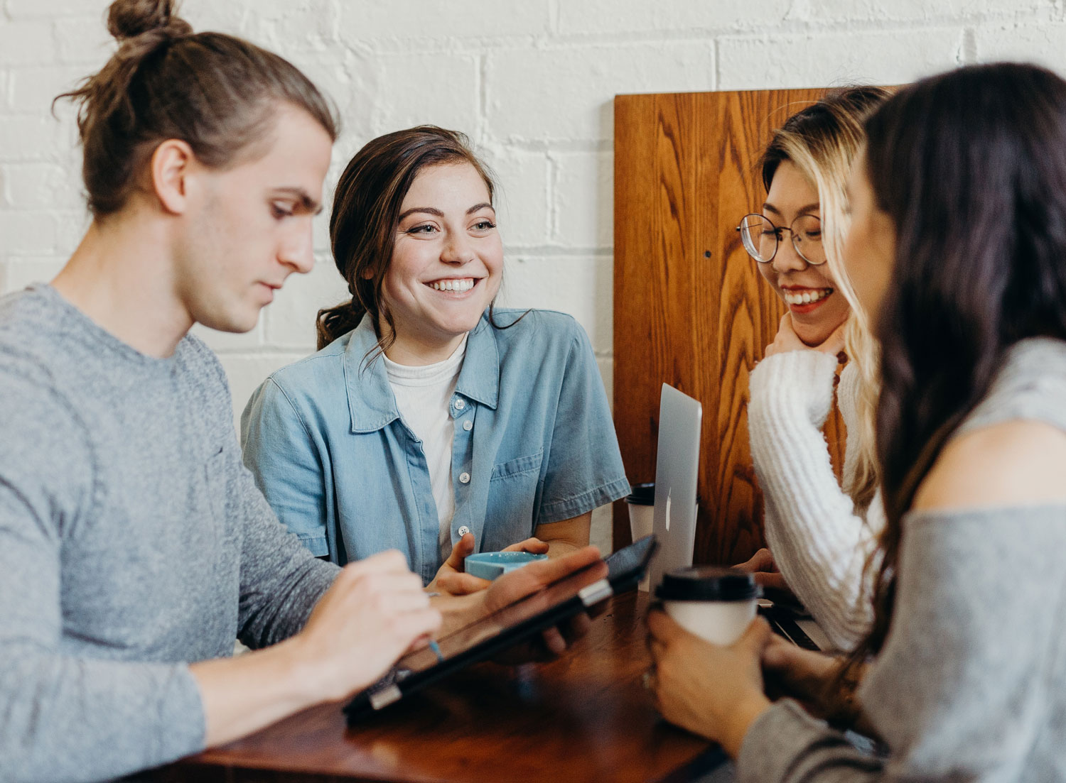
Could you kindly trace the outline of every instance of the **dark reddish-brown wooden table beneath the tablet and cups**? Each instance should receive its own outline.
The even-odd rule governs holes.
[[[349,729],[339,704],[155,770],[160,783],[685,781],[721,751],[664,722],[642,687],[647,593],[612,599],[551,664],[479,664]],[[140,780],[140,779],[139,779]]]

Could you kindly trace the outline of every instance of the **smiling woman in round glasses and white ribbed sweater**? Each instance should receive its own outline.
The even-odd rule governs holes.
[[[780,586],[784,577],[840,649],[869,626],[862,573],[884,520],[871,437],[875,352],[849,307],[839,264],[843,193],[862,119],[887,95],[879,87],[836,91],[789,117],[762,154],[762,211],[738,227],[789,309],[750,376],[748,430],[770,552],[742,568],[778,569],[759,578]],[[822,426],[838,364],[849,357],[837,393],[847,428],[841,488]]]

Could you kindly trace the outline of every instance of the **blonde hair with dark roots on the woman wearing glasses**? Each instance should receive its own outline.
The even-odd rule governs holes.
[[[844,473],[843,490],[863,515],[879,484],[875,423],[881,356],[869,319],[841,263],[850,223],[845,185],[865,140],[862,124],[889,95],[882,87],[869,86],[831,91],[789,117],[774,132],[762,156],[762,181],[768,191],[777,166],[786,160],[818,190],[822,243],[829,273],[852,308],[844,329],[844,346],[858,373],[855,407],[859,431],[853,434],[858,452]]]

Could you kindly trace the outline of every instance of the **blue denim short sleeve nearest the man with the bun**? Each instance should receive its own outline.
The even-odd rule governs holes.
[[[244,463],[277,518],[312,555],[328,556],[330,499],[322,460],[300,413],[274,378],[268,378],[244,408],[241,446]]]

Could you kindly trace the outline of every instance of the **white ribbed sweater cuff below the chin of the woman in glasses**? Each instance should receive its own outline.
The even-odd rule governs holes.
[[[803,411],[821,427],[833,407],[833,377],[837,357],[820,350],[789,350],[774,354],[752,370],[748,379],[750,406],[774,418]],[[771,412],[774,411],[774,412]]]

